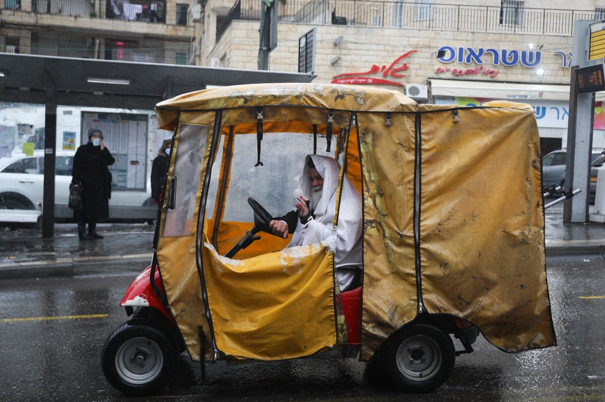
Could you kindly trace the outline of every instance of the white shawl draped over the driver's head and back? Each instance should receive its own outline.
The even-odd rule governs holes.
[[[306,225],[300,222],[292,235],[288,247],[303,244],[319,243],[332,235],[334,216],[336,213],[336,198],[338,196],[338,177],[340,165],[328,156],[307,155],[302,171],[302,192],[305,196],[311,193],[308,161],[311,159],[316,170],[324,178],[319,205],[315,209],[315,219]],[[336,228],[336,244],[334,261],[338,266],[361,266],[361,231],[362,231],[361,196],[350,179],[345,175],[342,183],[341,208]]]

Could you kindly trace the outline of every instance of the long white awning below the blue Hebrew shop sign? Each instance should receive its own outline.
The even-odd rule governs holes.
[[[569,101],[569,85],[524,84],[506,82],[440,80],[430,78],[431,92],[441,97],[469,97],[510,101]],[[605,92],[597,92],[597,100],[605,100]]]

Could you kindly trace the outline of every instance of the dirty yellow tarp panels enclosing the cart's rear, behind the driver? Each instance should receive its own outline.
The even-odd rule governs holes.
[[[460,109],[455,118],[451,110],[428,112],[424,106],[427,112],[401,123],[409,127],[420,119],[417,142],[401,132],[380,138],[366,132],[359,118],[368,189],[366,356],[413,319],[420,302],[429,313],[473,322],[505,351],[555,343],[533,110],[509,103],[485,106],[510,108]],[[417,170],[414,155],[419,155]],[[400,168],[393,169],[393,161]]]

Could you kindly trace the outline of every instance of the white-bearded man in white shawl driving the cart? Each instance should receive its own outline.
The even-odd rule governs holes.
[[[307,155],[302,171],[302,192],[294,206],[283,217],[270,222],[273,234],[287,238],[288,247],[320,243],[332,235],[338,196],[340,166],[328,156]],[[336,227],[334,263],[341,291],[355,286],[355,270],[362,268],[362,204],[361,196],[345,175],[341,190],[341,208]]]

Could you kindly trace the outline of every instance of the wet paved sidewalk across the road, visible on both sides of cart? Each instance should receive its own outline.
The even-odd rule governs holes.
[[[154,225],[101,223],[102,240],[80,241],[75,223],[56,223],[54,237],[41,228],[0,228],[0,279],[116,273],[137,275],[151,264]],[[563,223],[563,204],[545,214],[546,255],[605,255],[605,224]]]

